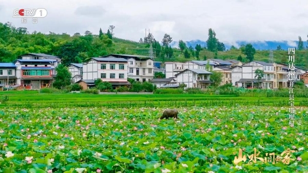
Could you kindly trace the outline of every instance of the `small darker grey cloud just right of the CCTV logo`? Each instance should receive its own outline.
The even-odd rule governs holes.
[[[89,16],[89,17],[100,17],[105,12],[106,10],[104,10],[101,6],[84,6],[84,7],[78,7],[75,10],[75,14]]]

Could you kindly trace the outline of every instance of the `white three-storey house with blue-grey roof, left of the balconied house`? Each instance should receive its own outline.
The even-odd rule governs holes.
[[[110,82],[113,88],[131,85],[127,82],[127,60],[117,57],[92,57],[83,64],[83,81],[77,83],[88,80],[94,83],[95,79]]]

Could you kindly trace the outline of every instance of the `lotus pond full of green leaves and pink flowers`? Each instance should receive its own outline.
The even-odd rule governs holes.
[[[0,172],[308,172],[307,108],[294,127],[287,107],[179,108],[180,119],[159,120],[163,110],[2,109]],[[287,148],[289,164],[258,159]],[[247,160],[235,164],[239,149]]]

